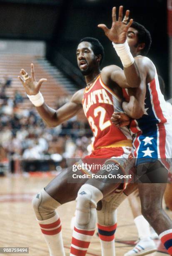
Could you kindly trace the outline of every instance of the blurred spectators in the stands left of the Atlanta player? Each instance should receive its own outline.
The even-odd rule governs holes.
[[[11,82],[0,84],[0,162],[7,159],[59,162],[87,155],[91,142],[87,123],[72,118],[55,128],[46,127],[35,108],[21,108],[27,97],[18,91],[13,97],[7,97],[6,88]],[[27,166],[24,165],[24,169]]]

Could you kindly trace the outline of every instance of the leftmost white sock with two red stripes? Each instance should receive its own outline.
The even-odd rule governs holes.
[[[62,226],[57,213],[48,220],[38,220],[38,223],[47,242],[50,256],[65,256],[61,232]]]

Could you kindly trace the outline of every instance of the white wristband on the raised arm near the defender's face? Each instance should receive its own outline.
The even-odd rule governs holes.
[[[115,44],[112,42],[112,45],[115,48],[117,55],[120,57],[122,65],[124,67],[130,67],[134,63],[135,59],[130,52],[130,47],[127,41],[125,41],[124,44]]]

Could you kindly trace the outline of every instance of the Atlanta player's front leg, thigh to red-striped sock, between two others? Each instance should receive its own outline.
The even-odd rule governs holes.
[[[119,156],[119,151],[121,156],[115,159],[115,154]],[[122,177],[129,154],[128,148],[117,148],[117,153],[114,150],[112,158],[104,159],[103,166],[105,168],[96,173],[97,177],[93,175],[93,178],[88,179],[80,188],[76,200],[76,222],[72,237],[71,255],[80,256],[81,253],[82,255],[87,253],[87,248],[96,228],[97,203],[103,197],[114,192],[124,182]],[[105,155],[103,156],[105,157]],[[92,160],[94,163],[95,159]]]

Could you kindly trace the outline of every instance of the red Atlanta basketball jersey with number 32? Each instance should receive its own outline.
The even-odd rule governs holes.
[[[127,127],[115,127],[110,118],[113,112],[123,111],[122,99],[97,77],[82,100],[85,116],[95,136],[94,149],[102,147],[131,146],[131,135]]]

